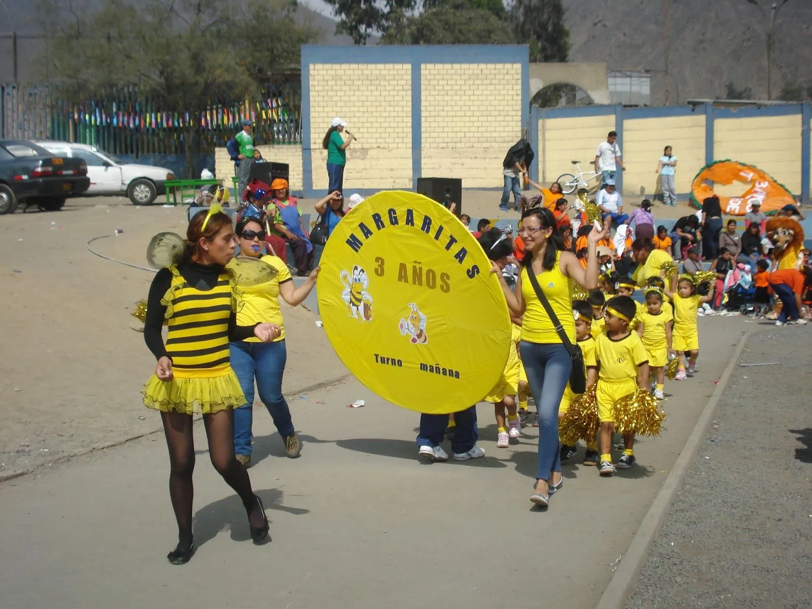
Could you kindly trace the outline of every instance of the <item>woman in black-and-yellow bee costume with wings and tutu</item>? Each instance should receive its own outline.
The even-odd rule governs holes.
[[[254,336],[263,342],[279,338],[275,323],[238,326],[232,300],[245,287],[276,276],[257,262],[234,264],[231,218],[217,206],[189,222],[187,238],[160,233],[149,244],[147,258],[155,275],[147,300],[144,339],[158,360],[146,382],[144,404],[161,412],[169,447],[169,494],[178,523],[178,545],[166,556],[171,564],[192,557],[192,470],[195,449],[192,415],[201,413],[214,468],[242,499],[253,541],[268,538],[262,502],[253,494],[248,472],[234,455],[233,408],[245,403],[231,369],[228,341]],[[228,265],[228,269],[226,266]],[[161,335],[166,323],[166,343]]]

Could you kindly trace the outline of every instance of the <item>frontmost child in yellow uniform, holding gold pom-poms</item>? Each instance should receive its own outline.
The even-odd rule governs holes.
[[[598,360],[598,419],[600,426],[601,476],[615,474],[611,462],[611,438],[615,428],[615,403],[633,394],[637,387],[649,385],[649,358],[640,337],[628,330],[637,306],[628,296],[615,296],[606,307],[606,334],[598,336],[596,359]],[[623,456],[618,469],[629,469],[634,464],[634,434],[623,436]]]

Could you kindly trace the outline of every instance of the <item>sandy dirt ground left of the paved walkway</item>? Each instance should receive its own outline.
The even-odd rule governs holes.
[[[147,266],[158,231],[184,234],[186,209],[136,208],[122,198],[68,200],[55,213],[0,217],[0,479],[91,447],[158,428],[138,391],[154,358],[130,315],[153,272],[94,256]],[[283,307],[286,305],[283,304]],[[347,370],[316,317],[283,309],[289,348],[284,389],[301,391]],[[313,362],[318,362],[314,365]]]

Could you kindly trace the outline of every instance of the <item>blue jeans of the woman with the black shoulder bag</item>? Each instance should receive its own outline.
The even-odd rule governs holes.
[[[550,482],[551,472],[561,471],[558,409],[572,372],[572,358],[561,343],[519,343],[527,382],[538,408],[537,480]]]

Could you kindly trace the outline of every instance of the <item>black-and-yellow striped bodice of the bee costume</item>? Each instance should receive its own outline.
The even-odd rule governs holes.
[[[177,378],[209,378],[231,372],[228,319],[231,283],[221,274],[210,290],[197,290],[173,270],[166,352]],[[168,296],[168,295],[167,295]]]

